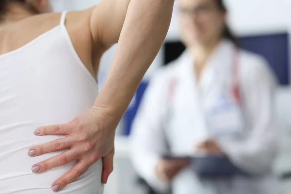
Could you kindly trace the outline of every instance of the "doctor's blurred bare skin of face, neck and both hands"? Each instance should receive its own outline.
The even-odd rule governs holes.
[[[226,25],[226,12],[219,10],[215,0],[179,0],[178,6],[180,37],[193,56],[199,81],[209,56],[221,40]],[[215,140],[201,142],[197,150],[222,154]],[[160,159],[156,174],[162,180],[171,181],[187,165],[186,160]]]

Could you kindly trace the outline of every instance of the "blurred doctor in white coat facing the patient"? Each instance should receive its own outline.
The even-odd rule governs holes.
[[[132,162],[157,191],[174,194],[279,194],[278,151],[267,62],[238,49],[222,0],[179,0],[186,51],[151,80],[133,124]],[[200,178],[184,159],[223,154],[253,178]]]

